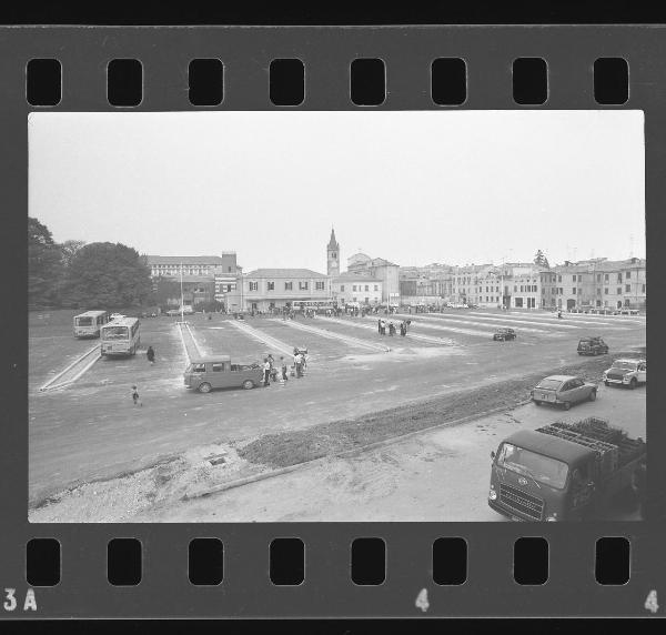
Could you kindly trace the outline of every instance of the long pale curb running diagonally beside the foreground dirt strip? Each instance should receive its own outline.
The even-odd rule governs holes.
[[[484,416],[488,416],[491,414],[497,414],[500,412],[509,412],[516,407],[528,404],[532,400],[523,400],[509,407],[506,407],[506,406],[494,407],[494,409],[487,410],[485,412],[471,414],[468,416],[456,419],[454,421],[438,423],[436,425],[431,425],[428,427],[423,427],[421,430],[407,432],[406,434],[401,434],[398,436],[392,436],[390,439],[376,441],[374,443],[370,443],[370,444],[363,445],[361,447],[352,447],[351,450],[343,450],[342,452],[335,452],[335,453],[329,454],[326,456],[320,456],[319,458],[313,458],[312,461],[305,461],[303,463],[295,463],[294,465],[287,465],[286,467],[279,467],[278,470],[272,470],[271,472],[262,472],[261,474],[254,474],[253,476],[246,476],[245,478],[238,478],[236,481],[230,481],[229,483],[222,483],[214,487],[210,487],[209,490],[205,490],[204,492],[200,492],[198,494],[193,494],[193,495],[185,494],[184,496],[181,497],[181,501],[193,501],[195,498],[203,498],[205,496],[219,494],[219,493],[225,492],[228,490],[234,490],[236,487],[242,487],[243,485],[250,485],[250,484],[256,483],[259,481],[265,481],[268,478],[273,478],[275,476],[282,476],[283,474],[289,474],[290,472],[295,472],[296,470],[312,467],[314,465],[325,463],[326,461],[330,461],[332,458],[345,458],[346,456],[353,456],[355,454],[363,454],[364,452],[370,452],[372,450],[376,450],[377,447],[385,447],[387,445],[393,445],[395,443],[400,443],[401,441],[412,439],[412,437],[423,434],[425,432],[432,432],[434,430],[438,430],[438,429],[443,429],[443,427],[454,427],[456,425],[462,425],[463,423],[468,423],[470,421],[483,419]]]

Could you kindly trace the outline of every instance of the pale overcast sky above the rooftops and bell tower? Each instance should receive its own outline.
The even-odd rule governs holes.
[[[245,271],[645,255],[640,111],[31,113],[58,242],[236,251]]]

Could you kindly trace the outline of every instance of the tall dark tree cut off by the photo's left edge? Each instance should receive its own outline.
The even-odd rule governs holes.
[[[28,218],[28,306],[38,309],[59,302],[61,252],[53,236],[37,219]]]

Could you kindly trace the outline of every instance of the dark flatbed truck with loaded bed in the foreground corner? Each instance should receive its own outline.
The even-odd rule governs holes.
[[[491,452],[488,505],[513,521],[586,521],[644,483],[646,444],[597,417],[507,436]]]

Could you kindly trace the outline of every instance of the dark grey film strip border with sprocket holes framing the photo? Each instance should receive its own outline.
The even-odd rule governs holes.
[[[0,153],[0,184],[8,210],[4,228],[10,238],[2,258],[12,263],[12,271],[16,271],[18,279],[14,286],[10,282],[10,291],[14,298],[24,293],[22,235],[28,203],[26,121],[27,115],[36,110],[643,109],[646,113],[647,139],[647,250],[657,252],[666,238],[654,220],[666,193],[660,170],[666,157],[666,94],[663,81],[666,64],[660,54],[665,37],[662,28],[638,27],[2,29],[0,137],[6,150]],[[531,60],[527,62],[529,68],[524,67],[517,74],[524,71],[524,77],[537,78],[527,84],[541,85],[541,92],[537,91],[541,98],[544,94],[544,67],[534,60],[544,60],[546,63],[547,98],[541,104],[516,102],[514,62],[525,59]],[[595,63],[608,59],[616,60],[610,62],[619,64],[616,69],[622,65],[617,60],[626,62],[627,81],[623,80],[625,73],[614,75],[616,80],[622,75],[620,81],[613,82],[615,89],[619,88],[617,92],[613,91],[615,101],[599,105],[598,100],[603,98],[598,90],[595,92],[595,77],[598,79]],[[60,95],[51,94],[53,105],[32,105],[29,102],[32,94],[27,82],[27,69],[31,60],[58,60],[62,81]],[[142,90],[141,101],[137,105],[110,104],[107,80],[113,60],[140,62]],[[206,62],[192,72],[192,60],[220,60],[222,69]],[[274,60],[292,61],[280,69],[272,68]],[[271,75],[275,77],[275,72],[287,78],[289,81],[284,82],[292,87],[286,90],[292,101],[295,102],[299,97],[291,92],[294,84],[296,88],[299,85],[293,78],[297,80],[300,72],[296,72],[299,69],[293,60],[302,62],[304,99],[299,105],[276,105],[271,99],[276,94],[271,91]],[[375,97],[376,104],[354,103],[351,80],[354,60],[382,61],[383,101],[379,102]],[[464,61],[464,101],[461,63],[445,62],[444,67],[435,69],[433,64],[442,63],[438,60]],[[519,62],[518,67],[524,63]],[[50,64],[50,70],[44,67],[47,77],[49,73],[51,77],[58,74],[53,73],[53,62]],[[377,68],[374,61],[362,71],[376,78]],[[208,84],[205,78],[220,70],[221,102],[216,105],[196,103],[200,98],[193,97],[191,84],[200,81]],[[131,88],[132,82],[135,85],[137,77],[132,75],[131,69],[113,70],[111,64],[112,77],[115,71],[120,75],[124,73],[125,85]],[[444,94],[448,97],[441,98],[441,93],[433,91],[433,73],[436,75],[438,72],[444,73]],[[200,79],[192,81],[198,73],[201,73]],[[542,78],[541,84],[538,77]],[[38,87],[38,94],[43,85]],[[454,90],[456,85],[457,92]],[[194,92],[198,90],[194,85]],[[284,93],[284,89],[278,92]],[[58,97],[60,99],[56,101]],[[216,93],[202,99],[215,100],[219,97]],[[623,97],[627,98],[624,102],[620,101]],[[278,101],[281,99],[276,97]],[[444,99],[461,103],[437,102]],[[11,240],[13,238],[16,240]],[[9,343],[8,355],[10,360],[22,360],[22,363],[13,363],[3,390],[11,397],[8,403],[17,406],[17,416],[11,417],[12,421],[26,422],[27,321],[17,319],[10,324],[16,337]],[[659,349],[663,335],[655,329],[656,324],[648,320],[648,337],[650,346]],[[660,373],[659,369],[654,371],[657,385]],[[662,420],[662,406],[654,396],[654,392],[648,392],[648,485],[652,497],[655,486],[665,482],[664,467],[658,461],[664,434],[656,425]],[[581,526],[556,523],[30,525],[27,522],[27,425],[6,426],[0,457],[6,473],[0,480],[3,510],[0,515],[3,536],[0,544],[0,587],[13,589],[16,611],[28,617],[619,616],[663,612],[658,607],[658,594],[663,593],[660,589],[665,577],[663,563],[666,562],[666,554],[662,538],[665,532],[662,521],[650,516],[649,508],[648,521],[644,523]],[[599,547],[601,537],[619,538],[620,542],[602,543]],[[31,543],[36,538],[49,542]],[[129,538],[130,542],[112,542],[119,538]],[[212,550],[209,553],[202,547],[203,543],[191,547],[196,538],[220,543],[205,543],[206,548]],[[300,584],[275,584],[271,579],[271,545],[275,544],[276,538],[290,538],[291,545],[282,543],[285,551],[273,554],[280,556],[278,560],[289,563],[287,573],[283,572],[286,578],[282,581],[297,582],[302,574]],[[370,572],[372,584],[356,584],[353,578],[352,545],[357,544],[354,541],[359,538],[373,538],[361,543],[365,548],[359,552],[361,570]],[[522,545],[518,552],[529,547],[522,553],[532,554],[529,557],[538,558],[542,564],[547,557],[545,582],[516,582],[514,553],[519,538],[547,541],[547,554],[542,541],[518,543]],[[438,542],[442,540],[444,542]],[[624,540],[628,541],[628,554]],[[141,544],[140,555],[133,541]],[[110,547],[110,544],[113,546]],[[221,582],[194,584],[190,579],[189,556],[193,554],[196,560],[203,550],[209,564],[220,564],[220,544]],[[299,544],[302,546],[299,547]],[[464,581],[460,575],[463,544]],[[618,576],[610,578],[612,583],[620,584],[601,584],[597,579],[596,554],[597,548],[603,551],[604,544],[615,548],[624,545],[620,546],[620,552],[624,550],[624,565],[618,570]],[[135,567],[121,567],[115,573],[112,567],[110,582],[110,548],[111,560],[120,556],[125,564],[137,564],[139,558],[140,579],[135,575]],[[281,547],[275,548],[280,551]],[[453,551],[447,552],[446,548]],[[629,579],[622,584],[627,574],[627,555]],[[27,576],[31,575],[34,560],[41,564],[37,567],[37,578],[29,581]],[[443,570],[440,568],[442,562],[446,563]],[[50,567],[41,566],[49,563]],[[453,563],[457,565],[453,566]],[[40,578],[39,572],[49,568],[51,572],[56,568],[58,575],[50,579]],[[125,568],[133,568],[133,578],[131,573],[123,573]],[[380,579],[382,576],[377,571],[382,568],[383,579]],[[452,570],[458,573],[453,575]],[[216,571],[219,573],[220,568]],[[453,577],[447,578],[448,575]],[[280,579],[278,576],[278,582]],[[128,581],[139,584],[112,584]],[[52,582],[57,584],[44,585]],[[37,611],[30,606],[24,609],[30,591],[34,595]],[[9,599],[3,602],[11,604]],[[16,617],[17,613],[6,609],[0,615]]]

